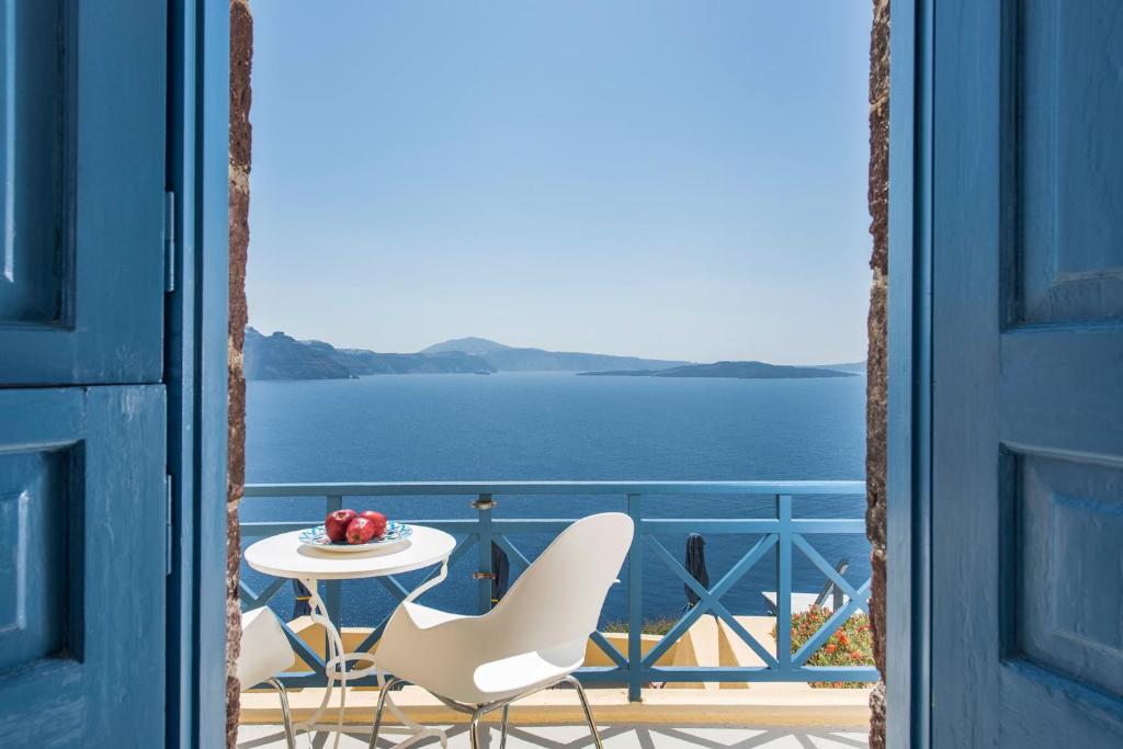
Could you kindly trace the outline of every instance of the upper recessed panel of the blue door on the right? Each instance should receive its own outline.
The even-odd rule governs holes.
[[[1123,138],[1119,3],[1012,3],[1010,86],[1024,322],[1119,316]],[[1013,17],[1016,16],[1016,17]],[[1114,72],[1113,72],[1114,71]]]

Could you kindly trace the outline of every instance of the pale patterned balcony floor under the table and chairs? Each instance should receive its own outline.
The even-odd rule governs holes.
[[[465,725],[448,729],[450,749],[468,749]],[[499,729],[487,730],[482,747],[499,749]],[[365,749],[369,734],[344,734],[339,741],[346,749]],[[688,728],[673,725],[602,725],[601,737],[605,749],[865,749],[865,732],[830,729],[784,728]],[[307,749],[330,748],[334,734],[296,736],[296,747]],[[380,739],[380,749],[389,749],[399,736]],[[414,746],[439,746],[436,740]],[[512,727],[506,746],[510,749],[578,749],[592,747],[588,729],[584,725]],[[238,731],[239,749],[284,749],[284,734],[276,725],[244,725]]]

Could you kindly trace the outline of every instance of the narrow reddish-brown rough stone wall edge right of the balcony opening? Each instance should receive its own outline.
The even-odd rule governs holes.
[[[869,38],[869,232],[874,252],[869,267],[869,354],[866,380],[866,535],[873,546],[870,624],[874,659],[885,674],[885,449],[886,349],[889,209],[889,0],[873,0],[874,26]],[[869,746],[885,747],[885,683],[869,698]]]

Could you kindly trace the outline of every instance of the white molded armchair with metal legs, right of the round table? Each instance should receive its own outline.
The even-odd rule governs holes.
[[[401,604],[374,656],[380,672],[393,678],[378,695],[372,749],[386,694],[399,682],[423,687],[449,707],[471,713],[473,749],[478,747],[483,715],[503,709],[503,749],[511,703],[568,682],[600,748],[588,700],[573,673],[585,660],[588,636],[596,630],[633,530],[631,518],[619,512],[578,520],[542,551],[494,609],[480,616]]]

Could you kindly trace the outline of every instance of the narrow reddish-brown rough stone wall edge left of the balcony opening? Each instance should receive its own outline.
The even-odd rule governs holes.
[[[240,537],[238,502],[246,482],[246,381],[241,349],[246,339],[246,256],[249,249],[249,73],[254,53],[254,19],[249,0],[230,0],[230,328],[229,328],[229,464],[227,467],[226,557],[226,742],[238,736],[238,678],[235,663],[241,632],[238,605]]]

